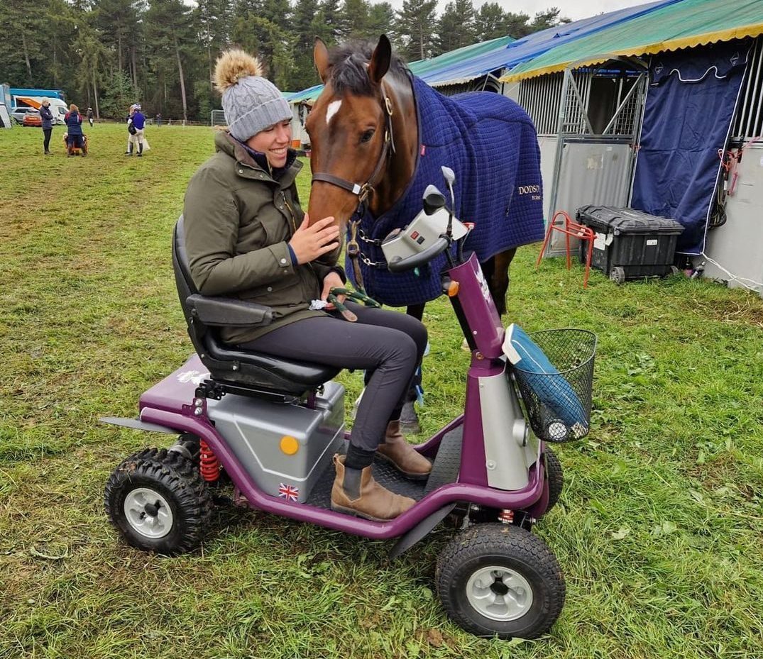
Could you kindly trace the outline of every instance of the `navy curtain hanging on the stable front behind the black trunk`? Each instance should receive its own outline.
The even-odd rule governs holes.
[[[662,53],[649,66],[631,206],[684,225],[678,252],[700,254],[750,50],[748,40]]]

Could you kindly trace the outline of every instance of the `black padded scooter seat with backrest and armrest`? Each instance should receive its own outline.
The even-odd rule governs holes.
[[[172,267],[188,335],[213,381],[255,391],[301,396],[340,372],[340,368],[250,352],[222,342],[215,326],[230,325],[231,319],[237,323],[267,325],[272,319],[272,310],[234,297],[199,294],[188,268],[182,215],[175,223],[172,236]]]

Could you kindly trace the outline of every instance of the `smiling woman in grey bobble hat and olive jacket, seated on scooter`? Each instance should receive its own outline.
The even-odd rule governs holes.
[[[333,217],[308,226],[295,185],[301,162],[289,148],[291,108],[262,67],[240,50],[217,60],[228,130],[185,193],[185,247],[196,287],[273,309],[265,327],[223,328],[222,338],[257,352],[369,372],[346,456],[334,456],[331,506],[367,519],[392,519],[414,500],[391,493],[371,473],[375,455],[425,479],[430,461],[401,435],[408,382],[427,345],[419,321],[348,303],[358,320],[331,306],[314,310],[345,281],[329,265],[340,247]],[[313,307],[313,308],[311,308]]]

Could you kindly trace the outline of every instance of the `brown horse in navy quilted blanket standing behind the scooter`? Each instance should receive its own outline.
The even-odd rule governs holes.
[[[494,92],[446,97],[414,76],[385,35],[375,47],[329,51],[315,40],[324,90],[305,121],[311,142],[310,221],[333,216],[346,230],[346,265],[357,288],[423,317],[442,294],[442,255],[414,272],[388,272],[381,241],[421,210],[423,189],[456,172],[452,211],[474,228],[476,252],[499,314],[517,247],[543,239],[539,146],[530,117]],[[447,198],[447,197],[446,197]]]

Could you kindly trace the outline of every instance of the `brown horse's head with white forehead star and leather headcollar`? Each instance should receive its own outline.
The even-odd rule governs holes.
[[[375,214],[384,208],[400,89],[384,78],[399,60],[385,35],[372,52],[353,46],[329,53],[317,39],[313,55],[325,86],[305,121],[313,172],[308,212],[311,222],[333,215],[344,226],[361,201]]]

